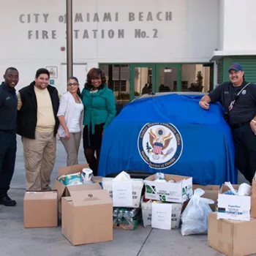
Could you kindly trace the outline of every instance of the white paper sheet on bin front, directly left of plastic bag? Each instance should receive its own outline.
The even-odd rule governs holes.
[[[170,203],[152,203],[152,227],[170,230],[172,222],[172,205]]]

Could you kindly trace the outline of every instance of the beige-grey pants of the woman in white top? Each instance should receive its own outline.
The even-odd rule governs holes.
[[[67,166],[78,165],[78,151],[81,140],[81,132],[69,133],[70,139],[61,138],[61,143],[67,152]]]

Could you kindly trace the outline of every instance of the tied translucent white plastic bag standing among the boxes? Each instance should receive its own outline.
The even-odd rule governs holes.
[[[182,236],[207,234],[208,214],[212,212],[209,204],[214,201],[201,197],[204,193],[203,189],[195,189],[194,195],[181,215]]]

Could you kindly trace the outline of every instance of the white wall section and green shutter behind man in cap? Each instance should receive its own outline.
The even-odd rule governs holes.
[[[232,63],[241,64],[246,80],[256,82],[255,8],[253,0],[219,1],[218,45],[211,58],[217,63],[217,83],[228,80],[227,69]]]

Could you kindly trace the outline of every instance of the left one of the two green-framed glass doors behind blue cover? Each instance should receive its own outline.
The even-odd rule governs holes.
[[[130,100],[143,94],[156,91],[156,65],[131,64],[130,65]]]

